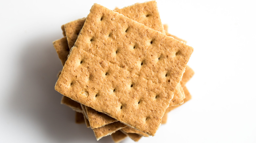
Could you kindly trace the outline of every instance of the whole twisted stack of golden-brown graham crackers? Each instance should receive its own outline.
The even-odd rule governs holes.
[[[154,136],[167,113],[191,99],[193,48],[167,33],[155,1],[114,11],[94,4],[61,28],[53,46],[64,67],[55,90],[97,140]]]

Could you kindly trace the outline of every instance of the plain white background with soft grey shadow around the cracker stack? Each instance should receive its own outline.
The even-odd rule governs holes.
[[[63,37],[62,24],[86,17],[93,3],[114,9],[137,2],[144,0],[0,2],[0,142],[96,142],[60,104],[54,84],[62,66],[52,41]],[[255,2],[157,3],[169,32],[194,48],[188,65],[195,75],[187,83],[193,99],[139,142],[256,142]]]

